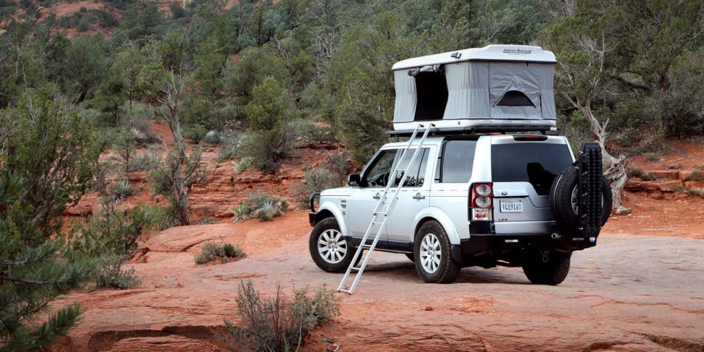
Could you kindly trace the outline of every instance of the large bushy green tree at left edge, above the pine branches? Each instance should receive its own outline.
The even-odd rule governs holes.
[[[7,131],[2,167],[26,180],[20,201],[31,206],[27,232],[55,232],[57,216],[92,185],[101,147],[91,122],[48,85],[4,111],[0,130]]]

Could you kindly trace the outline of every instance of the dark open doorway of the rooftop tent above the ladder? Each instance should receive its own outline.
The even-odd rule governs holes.
[[[444,70],[415,74],[417,105],[414,120],[440,120],[447,105],[447,80]]]

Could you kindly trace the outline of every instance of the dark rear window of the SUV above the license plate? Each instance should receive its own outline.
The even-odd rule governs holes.
[[[530,182],[538,194],[550,194],[560,171],[572,165],[567,144],[544,142],[494,144],[491,146],[493,182]]]

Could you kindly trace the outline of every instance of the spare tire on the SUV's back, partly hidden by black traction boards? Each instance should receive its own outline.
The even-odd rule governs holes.
[[[570,166],[562,170],[550,187],[550,208],[557,222],[570,230],[579,227],[579,168]],[[611,215],[611,187],[604,175],[601,175],[601,225],[604,225]]]

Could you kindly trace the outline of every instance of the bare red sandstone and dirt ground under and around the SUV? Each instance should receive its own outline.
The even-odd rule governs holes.
[[[163,122],[153,130],[169,132]],[[194,193],[191,210],[229,222],[227,208],[248,189],[290,198],[303,165],[318,165],[342,147],[294,149],[277,175],[253,168],[236,175],[229,162],[215,167],[217,151],[209,146],[204,158],[213,172]],[[693,158],[698,148],[681,146]],[[686,168],[697,164],[693,158],[684,158]],[[143,176],[134,178],[144,185]],[[153,203],[149,187],[139,187],[142,194],[128,203]],[[94,201],[82,204],[90,208]],[[454,284],[423,284],[404,256],[377,252],[356,293],[339,294],[341,315],[313,331],[304,351],[701,351],[704,200],[681,192],[627,192],[624,201],[633,212],[612,216],[596,248],[574,253],[570,276],[558,287],[530,285],[520,268],[465,268]],[[293,208],[273,222],[151,235],[129,264],[142,285],[74,293],[56,303],[77,301],[87,312],[54,351],[225,351],[218,336],[224,319],[237,321],[241,279],[264,294],[277,283],[287,295],[294,287],[336,288],[341,274],[323,272],[310,260],[308,216]],[[206,241],[237,243],[248,257],[195,265]]]

